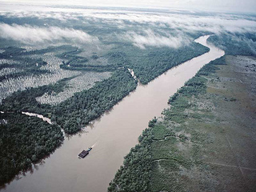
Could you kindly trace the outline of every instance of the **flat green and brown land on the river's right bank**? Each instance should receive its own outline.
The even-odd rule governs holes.
[[[204,66],[150,122],[109,191],[254,191],[255,62]]]

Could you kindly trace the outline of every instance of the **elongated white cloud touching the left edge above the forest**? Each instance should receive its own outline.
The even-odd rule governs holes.
[[[75,42],[98,42],[98,38],[86,34],[82,30],[70,28],[59,28],[55,26],[38,27],[38,26],[20,26],[0,23],[0,37],[12,39],[26,44],[38,42],[53,42],[58,40],[70,40]]]

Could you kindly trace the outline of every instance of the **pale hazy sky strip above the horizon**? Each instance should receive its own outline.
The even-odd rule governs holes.
[[[127,6],[150,8],[173,8],[186,10],[213,10],[225,12],[254,13],[256,1],[254,0],[0,0],[4,3],[27,3],[37,5],[70,5],[70,6]]]

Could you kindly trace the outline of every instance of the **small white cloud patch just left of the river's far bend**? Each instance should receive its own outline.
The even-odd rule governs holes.
[[[145,30],[143,32],[143,34],[128,32],[123,36],[123,38],[130,40],[133,42],[134,46],[138,46],[141,49],[145,49],[146,46],[169,46],[178,48],[191,42],[190,38],[187,36],[182,36],[181,34],[176,34],[175,36],[166,34],[163,36],[154,33],[152,30]]]

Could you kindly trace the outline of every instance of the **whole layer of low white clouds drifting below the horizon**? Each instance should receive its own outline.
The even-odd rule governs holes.
[[[204,31],[212,34],[226,33],[254,33],[256,31],[256,17],[246,14],[213,14],[190,11],[162,11],[154,10],[99,10],[86,8],[38,8],[38,10],[2,11],[0,15],[7,18],[54,18],[62,22],[63,26],[73,26],[74,20],[81,22],[88,29],[95,29],[102,24],[109,27],[110,34],[102,37],[106,40],[122,38],[129,40],[140,48],[146,46],[169,46],[177,48],[191,42],[187,34],[197,34]],[[66,25],[68,24],[68,25]],[[122,30],[111,29],[118,28]],[[150,29],[150,30],[148,30]],[[126,31],[124,31],[126,30]],[[163,34],[162,31],[175,33]],[[128,31],[128,32],[127,32]],[[138,32],[140,31],[140,32]],[[104,31],[106,32],[106,30]],[[100,38],[101,34],[98,37]],[[0,23],[0,37],[34,43],[68,39],[76,42],[95,42],[98,38],[86,34],[82,30],[58,27],[18,26]]]

